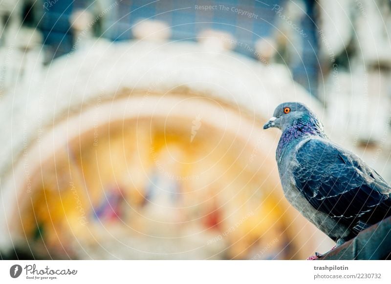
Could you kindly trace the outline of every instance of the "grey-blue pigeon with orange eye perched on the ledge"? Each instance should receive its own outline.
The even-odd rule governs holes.
[[[304,104],[277,106],[263,129],[282,135],[276,160],[286,199],[339,246],[391,215],[391,187],[357,155],[332,142]]]

